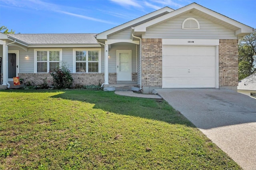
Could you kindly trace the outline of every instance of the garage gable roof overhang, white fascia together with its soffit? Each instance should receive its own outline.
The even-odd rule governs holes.
[[[236,20],[228,18],[222,14],[214,12],[213,10],[205,8],[204,6],[198,5],[196,3],[189,4],[187,6],[179,8],[178,10],[170,12],[169,14],[160,16],[154,20],[150,20],[146,23],[135,26],[134,32],[138,32],[138,34],[144,34],[147,28],[166,22],[172,18],[176,18],[188,12],[192,12],[193,14],[196,14],[202,18],[205,18],[216,24],[233,30],[235,32],[235,35],[238,37],[242,37],[253,32],[252,27],[246,26],[240,22],[237,22]]]

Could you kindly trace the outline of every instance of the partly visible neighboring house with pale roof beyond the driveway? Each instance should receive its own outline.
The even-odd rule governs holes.
[[[256,73],[239,81],[237,92],[256,98]]]

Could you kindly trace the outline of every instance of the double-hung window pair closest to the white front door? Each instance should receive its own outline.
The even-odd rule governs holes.
[[[74,73],[101,73],[101,49],[73,49]]]

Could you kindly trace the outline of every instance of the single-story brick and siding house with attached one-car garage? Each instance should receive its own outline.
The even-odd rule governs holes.
[[[253,28],[192,3],[165,7],[100,34],[0,34],[3,85],[42,83],[60,61],[74,83],[237,90],[238,39]],[[8,55],[7,55],[8,53]]]

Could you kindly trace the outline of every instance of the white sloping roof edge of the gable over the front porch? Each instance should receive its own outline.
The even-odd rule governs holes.
[[[104,31],[104,32],[102,32],[100,34],[97,34],[96,35],[96,39],[98,39],[98,40],[100,40],[100,39],[106,40],[109,35],[116,34],[118,32],[126,30],[127,28],[131,28],[131,27],[137,26],[139,24],[148,22],[150,20],[153,20],[153,19],[158,18],[160,16],[163,16],[165,14],[168,14],[168,13],[170,13],[172,11],[174,11],[174,9],[169,8],[169,7],[166,6],[164,8],[159,9],[159,10],[156,10],[154,12],[151,12],[149,14],[146,14],[144,16],[136,18],[136,19],[134,19],[132,21],[126,22],[126,23],[124,23],[124,24],[122,24],[120,26],[116,26],[114,28],[111,28],[110,30],[106,30],[106,31]]]

